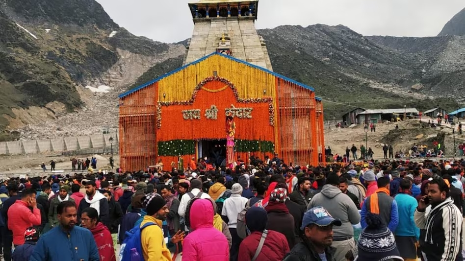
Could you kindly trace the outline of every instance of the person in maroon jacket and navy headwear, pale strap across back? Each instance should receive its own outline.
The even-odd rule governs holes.
[[[251,261],[255,256],[267,220],[267,213],[262,208],[249,209],[246,214],[246,222],[251,234],[240,243],[238,260]],[[289,252],[289,244],[286,237],[279,232],[268,230],[256,261],[282,261],[287,252]]]

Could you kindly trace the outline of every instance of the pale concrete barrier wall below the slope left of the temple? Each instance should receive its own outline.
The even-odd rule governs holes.
[[[119,137],[117,133],[78,136],[64,139],[0,142],[0,155],[64,152],[83,149],[109,149],[111,146],[109,142],[110,137],[113,137],[113,148],[118,147]]]

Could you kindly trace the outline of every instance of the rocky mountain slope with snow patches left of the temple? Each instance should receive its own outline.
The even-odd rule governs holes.
[[[0,140],[75,135],[76,122],[81,135],[115,130],[122,88],[185,54],[132,35],[95,0],[0,0],[0,35]]]

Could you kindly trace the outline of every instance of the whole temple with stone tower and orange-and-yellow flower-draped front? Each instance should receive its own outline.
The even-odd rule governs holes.
[[[266,2],[265,2],[266,3]],[[181,68],[119,95],[124,171],[192,158],[233,166],[237,157],[300,166],[324,161],[323,104],[314,89],[273,71],[257,34],[258,0],[199,0]]]

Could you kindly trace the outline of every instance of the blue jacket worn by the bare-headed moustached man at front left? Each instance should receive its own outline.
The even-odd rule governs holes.
[[[94,237],[88,229],[74,226],[68,234],[58,226],[39,238],[29,258],[29,261],[43,260],[100,261],[100,256]]]

